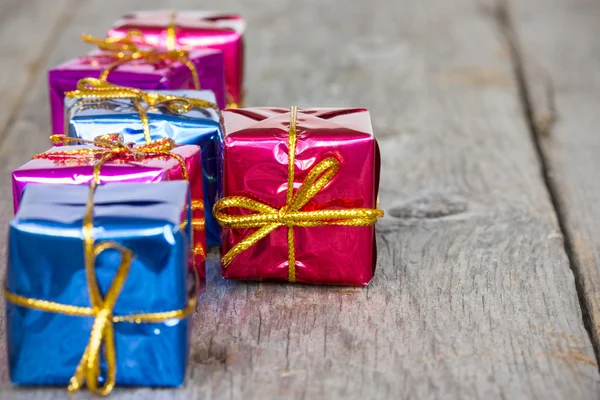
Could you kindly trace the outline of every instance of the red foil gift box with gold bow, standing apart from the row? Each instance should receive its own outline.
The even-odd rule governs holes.
[[[364,109],[223,113],[223,276],[364,286],[375,270],[379,152]]]

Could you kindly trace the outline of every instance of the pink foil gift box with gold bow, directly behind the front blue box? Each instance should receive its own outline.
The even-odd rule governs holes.
[[[57,139],[57,137],[54,138]],[[103,141],[103,138],[109,138],[109,140]],[[14,170],[12,184],[15,213],[19,209],[24,189],[29,184],[89,185],[94,178],[94,165],[98,162],[99,157],[118,149],[123,145],[123,139],[119,135],[111,135],[96,138],[96,143],[98,146],[55,146],[45,153],[36,155],[32,160]],[[206,234],[204,231],[204,189],[200,148],[198,146],[179,146],[169,151],[171,155],[159,154],[153,147],[144,145],[132,146],[131,150],[129,154],[119,154],[112,160],[103,163],[100,168],[100,183],[153,183],[188,180],[194,221],[192,249],[194,264],[200,276],[205,277]]]

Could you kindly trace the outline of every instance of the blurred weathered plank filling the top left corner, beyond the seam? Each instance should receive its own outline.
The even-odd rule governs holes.
[[[0,137],[69,17],[69,0],[0,2]],[[1,139],[0,139],[1,140]]]

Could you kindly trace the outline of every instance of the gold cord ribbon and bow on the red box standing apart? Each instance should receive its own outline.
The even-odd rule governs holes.
[[[288,182],[286,203],[280,209],[244,196],[225,197],[215,204],[213,213],[224,228],[259,228],[250,236],[233,246],[222,258],[223,268],[240,253],[269,235],[275,229],[287,227],[288,239],[288,281],[296,281],[296,252],[294,246],[294,227],[314,227],[323,225],[369,226],[383,211],[372,208],[349,208],[342,210],[302,211],[317,193],[319,193],[338,173],[340,163],[333,157],[326,158],[315,165],[308,173],[300,188],[294,193],[294,162],[296,159],[296,119],[297,108],[290,109],[290,128],[288,135]],[[231,215],[224,210],[240,208],[256,213],[249,215]]]

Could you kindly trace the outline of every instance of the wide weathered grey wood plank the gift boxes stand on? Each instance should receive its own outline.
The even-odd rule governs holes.
[[[367,289],[246,284],[220,279],[213,257],[185,387],[113,398],[594,397],[597,361],[494,14],[469,0],[233,6],[219,3],[249,19],[250,104],[371,109],[378,272]],[[48,66],[83,50],[81,31],[141,7],[160,3],[81,4]],[[46,147],[47,115],[40,76],[0,148],[3,210],[10,169]],[[65,396],[12,388],[6,370],[0,381],[2,398]]]

